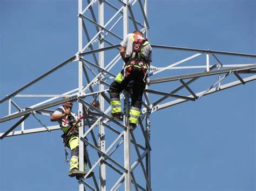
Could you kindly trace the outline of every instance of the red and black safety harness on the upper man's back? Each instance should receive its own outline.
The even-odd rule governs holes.
[[[132,55],[129,59],[129,62],[127,62],[128,64],[125,66],[125,69],[128,68],[126,70],[125,73],[125,77],[129,76],[132,72],[132,67],[138,67],[138,68],[142,68],[142,72],[144,74],[144,80],[146,77],[146,70],[148,68],[146,60],[143,58],[143,46],[146,46],[147,44],[149,44],[149,42],[144,39],[144,38],[140,38],[138,39],[138,34],[134,34],[134,36],[132,36]]]

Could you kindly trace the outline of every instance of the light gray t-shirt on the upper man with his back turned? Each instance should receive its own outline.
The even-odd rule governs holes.
[[[130,33],[127,34],[127,36],[124,38],[124,40],[120,43],[121,46],[126,48],[126,54],[125,54],[125,58],[129,58],[132,55],[132,36],[134,34]],[[144,39],[143,37],[138,35],[138,39]],[[146,46],[143,46],[143,57],[145,58],[145,60],[150,60],[152,61],[152,48],[150,46],[150,44],[147,44]]]

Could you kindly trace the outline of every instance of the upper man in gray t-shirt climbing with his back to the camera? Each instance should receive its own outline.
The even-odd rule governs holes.
[[[122,121],[120,93],[127,84],[133,80],[131,108],[130,108],[130,126],[134,128],[138,124],[140,109],[142,108],[143,91],[146,87],[147,69],[152,61],[152,48],[141,31],[134,31],[127,34],[120,43],[122,46],[120,54],[125,66],[114,82],[110,86],[110,99],[112,119]]]

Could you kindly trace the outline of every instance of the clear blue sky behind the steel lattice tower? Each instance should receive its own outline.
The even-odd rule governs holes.
[[[250,0],[151,0],[149,40],[256,54],[255,7]],[[77,52],[77,1],[1,0],[0,14],[1,98]],[[188,55],[192,54],[156,50],[152,64],[167,66]],[[226,64],[255,63],[255,59],[220,58]],[[39,82],[24,94],[57,94],[59,89],[73,88],[76,80],[76,73],[64,68],[49,77],[50,84]],[[61,84],[65,86],[60,88]],[[172,86],[151,89],[172,90]],[[155,112],[151,116],[153,190],[256,190],[255,91],[255,82],[250,82]],[[36,101],[17,98],[17,102],[26,107]],[[0,105],[1,117],[7,109],[6,103]],[[38,126],[32,119],[28,125]],[[0,132],[10,126],[0,124]],[[3,139],[0,190],[78,190],[77,181],[68,176],[60,135],[53,131]]]

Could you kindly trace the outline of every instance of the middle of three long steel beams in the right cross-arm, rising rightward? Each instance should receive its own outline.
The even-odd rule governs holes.
[[[178,75],[178,76],[172,76],[172,77],[163,77],[163,78],[160,78],[160,79],[150,80],[149,83],[150,84],[163,83],[163,82],[176,81],[176,80],[180,80],[180,79],[189,79],[189,78],[192,78],[192,77],[203,77],[203,76],[209,76],[209,75],[228,73],[228,72],[231,72],[231,71],[239,71],[239,70],[254,69],[254,68],[256,68],[256,65],[226,68],[226,69],[212,70],[212,71],[208,71],[208,72],[199,72],[199,73]]]

